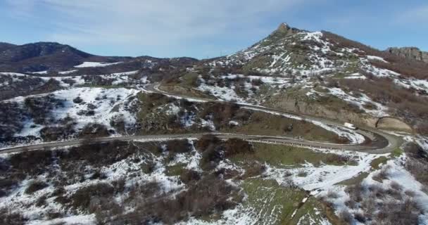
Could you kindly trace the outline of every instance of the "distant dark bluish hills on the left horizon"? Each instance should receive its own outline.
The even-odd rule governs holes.
[[[80,68],[104,68],[105,73],[115,72],[117,68],[132,68],[139,70],[143,68],[144,62],[163,63],[169,59],[153,58],[149,56],[132,57],[113,57],[113,56],[94,56],[89,53],[77,50],[72,46],[58,44],[53,42],[38,42],[32,44],[23,44],[20,46],[12,44],[0,44],[0,71],[2,72],[33,72],[39,75],[48,73],[56,74]],[[190,63],[194,59],[177,58],[172,59],[172,64]],[[87,62],[87,63],[85,63]],[[136,65],[137,64],[137,65]],[[110,68],[110,65],[116,65]],[[106,68],[107,67],[107,68]],[[120,72],[120,71],[119,71]],[[86,74],[94,72],[85,71]],[[99,71],[101,74],[102,71]]]

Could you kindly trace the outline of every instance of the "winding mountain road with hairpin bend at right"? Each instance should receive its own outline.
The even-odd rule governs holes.
[[[208,98],[194,98],[188,96],[180,96],[175,94],[170,94],[165,91],[160,90],[160,84],[147,84],[144,86],[145,91],[155,92],[158,94],[165,94],[175,98],[189,98],[194,101],[213,101],[224,103],[225,101],[218,101]],[[295,113],[285,112],[283,110],[277,110],[272,108],[266,108],[258,105],[248,105],[243,103],[237,103],[241,107],[248,108],[250,110],[263,110],[266,113],[280,113],[282,115],[289,115],[294,117],[300,117],[304,120],[312,120],[315,122],[322,122],[330,126],[339,127],[344,129],[343,124],[333,120],[327,120],[325,118],[313,117],[308,115],[296,115]],[[135,135],[135,136],[113,136],[105,137],[91,140],[71,140],[71,141],[59,141],[51,143],[38,143],[28,146],[16,146],[11,148],[2,148],[0,149],[1,153],[20,153],[29,150],[42,150],[42,149],[51,149],[51,148],[60,148],[65,146],[78,146],[84,141],[91,141],[92,143],[106,143],[110,141],[163,141],[169,139],[197,139],[206,134],[212,134],[218,136],[220,139],[231,139],[239,138],[245,139],[247,141],[253,142],[263,142],[263,143],[276,143],[284,144],[291,146],[304,146],[312,148],[329,148],[329,149],[339,149],[339,150],[355,150],[365,153],[372,154],[384,154],[390,153],[401,145],[401,140],[398,137],[391,134],[386,134],[383,131],[378,129],[373,129],[370,127],[360,127],[356,130],[358,134],[361,134],[365,137],[366,141],[360,144],[337,144],[337,143],[325,143],[319,141],[304,141],[298,139],[292,139],[284,136],[261,136],[261,135],[248,135],[248,134],[221,134],[221,133],[199,133],[199,134],[158,134],[158,135]]]

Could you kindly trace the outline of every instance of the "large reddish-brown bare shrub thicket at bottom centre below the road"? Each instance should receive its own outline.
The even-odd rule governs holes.
[[[211,174],[204,176],[175,198],[159,195],[156,190],[151,195],[146,195],[144,201],[138,201],[134,212],[121,214],[115,221],[119,224],[175,224],[189,217],[208,217],[237,205],[232,197],[237,195],[239,194],[233,186]],[[130,195],[130,198],[134,196]]]

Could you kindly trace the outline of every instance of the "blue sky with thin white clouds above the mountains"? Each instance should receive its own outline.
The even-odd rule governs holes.
[[[57,41],[103,56],[217,57],[283,22],[428,51],[422,0],[0,0],[0,41]]]

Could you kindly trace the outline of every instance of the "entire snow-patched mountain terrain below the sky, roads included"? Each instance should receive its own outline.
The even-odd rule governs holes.
[[[427,224],[427,78],[285,23],[208,60],[1,43],[1,224]]]

